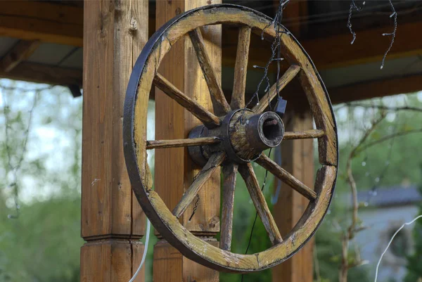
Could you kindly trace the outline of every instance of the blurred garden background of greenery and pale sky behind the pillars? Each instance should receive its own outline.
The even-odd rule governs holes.
[[[314,281],[338,281],[343,236],[352,221],[348,163],[359,202],[348,278],[373,281],[392,234],[422,213],[422,92],[334,109],[340,169],[331,209],[312,242]],[[155,131],[154,111],[151,101],[148,139]],[[0,112],[0,281],[79,281],[82,97],[73,98],[62,86],[0,79]],[[153,159],[151,154],[151,168]],[[255,172],[262,183],[264,169],[255,167]],[[264,193],[272,205],[283,197],[271,177]],[[248,243],[248,253],[269,248],[260,220],[250,241],[254,219],[247,189],[236,188],[232,251],[245,252]],[[151,231],[146,281],[152,281],[155,241]],[[422,220],[398,233],[379,281],[421,281],[420,257]],[[241,281],[241,275],[220,274],[220,279]],[[243,281],[271,281],[271,271],[245,275]]]

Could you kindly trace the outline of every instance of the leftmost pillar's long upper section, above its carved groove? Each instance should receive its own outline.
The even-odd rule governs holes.
[[[107,13],[97,13],[101,10]],[[120,16],[115,18],[115,13]],[[147,13],[148,5],[144,1],[85,2],[84,238],[109,234],[139,238],[145,229],[143,212],[136,201],[132,202],[132,187],[123,156],[121,117],[132,65],[148,32],[145,27],[130,33],[132,27],[128,23],[131,19],[146,18]]]

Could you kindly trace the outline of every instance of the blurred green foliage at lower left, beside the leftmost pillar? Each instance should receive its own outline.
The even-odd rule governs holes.
[[[0,281],[79,281],[80,198],[23,205],[0,217]]]

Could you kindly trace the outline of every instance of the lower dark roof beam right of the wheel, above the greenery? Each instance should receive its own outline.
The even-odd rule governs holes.
[[[388,77],[328,89],[331,103],[347,103],[369,98],[422,91],[422,73],[406,77]]]

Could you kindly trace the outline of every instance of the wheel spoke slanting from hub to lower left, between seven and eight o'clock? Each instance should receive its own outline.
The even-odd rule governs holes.
[[[225,158],[226,153],[224,152],[215,153],[210,157],[205,167],[203,167],[203,169],[198,174],[196,174],[195,179],[193,179],[191,186],[188,188],[188,190],[186,190],[184,196],[181,197],[180,202],[176,207],[174,207],[173,214],[175,217],[179,218],[181,214],[184,213],[188,205],[192,203],[192,200],[200,191],[200,188],[202,188],[203,184],[205,184],[205,182],[211,177],[212,172],[214,172],[215,169],[217,169],[217,167],[222,164]]]

